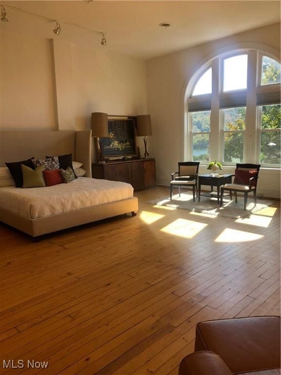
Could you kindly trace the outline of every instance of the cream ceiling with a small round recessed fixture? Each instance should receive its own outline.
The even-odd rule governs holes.
[[[149,59],[193,45],[209,42],[280,21],[280,1],[7,1],[2,4],[24,9],[58,21],[104,31],[110,51]],[[61,23],[60,36],[54,24],[7,7],[10,22],[27,30],[31,20],[44,23],[47,38],[93,44],[100,35]],[[24,26],[24,22],[26,22]],[[33,21],[32,21],[33,22]],[[171,23],[162,28],[161,22]],[[33,29],[34,32],[34,29]],[[93,37],[95,35],[95,37]],[[100,44],[99,39],[94,40]],[[100,48],[100,47],[99,47]]]

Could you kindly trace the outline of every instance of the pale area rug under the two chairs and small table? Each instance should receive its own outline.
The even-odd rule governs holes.
[[[245,217],[274,204],[273,201],[267,199],[258,199],[255,207],[253,198],[248,197],[247,209],[244,210],[244,198],[242,196],[238,196],[237,203],[235,203],[235,200],[230,201],[229,196],[224,197],[223,207],[218,205],[217,198],[215,197],[201,196],[200,200],[201,201],[198,202],[198,198],[196,198],[195,202],[193,202],[192,193],[181,193],[181,197],[179,197],[179,194],[174,194],[172,200],[170,200],[169,197],[162,197],[149,201],[148,203],[157,206],[187,209],[189,211],[207,213],[215,216],[230,217],[232,219]]]

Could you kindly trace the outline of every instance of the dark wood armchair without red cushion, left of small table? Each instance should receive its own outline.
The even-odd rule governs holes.
[[[173,197],[173,187],[179,188],[179,195],[181,196],[181,187],[192,186],[193,191],[193,202],[195,202],[195,190],[196,196],[198,196],[198,169],[200,162],[180,162],[179,171],[171,174],[172,181],[170,182],[170,198]],[[176,176],[177,175],[177,176]]]

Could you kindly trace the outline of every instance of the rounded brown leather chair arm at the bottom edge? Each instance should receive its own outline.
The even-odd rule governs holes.
[[[194,352],[182,359],[179,375],[233,375],[218,354]]]

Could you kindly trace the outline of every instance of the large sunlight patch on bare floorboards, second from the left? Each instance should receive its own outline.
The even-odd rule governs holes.
[[[198,223],[192,220],[177,219],[166,227],[160,229],[162,232],[173,234],[184,238],[193,238],[208,224]]]

